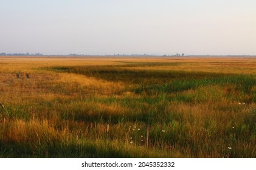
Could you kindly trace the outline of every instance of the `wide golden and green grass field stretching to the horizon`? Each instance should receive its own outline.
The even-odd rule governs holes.
[[[0,101],[0,157],[256,157],[256,58],[2,57]]]

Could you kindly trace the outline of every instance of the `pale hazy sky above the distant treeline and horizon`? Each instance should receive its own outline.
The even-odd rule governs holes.
[[[256,55],[255,0],[0,0],[0,53]]]

